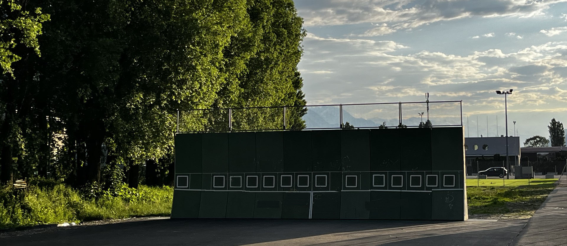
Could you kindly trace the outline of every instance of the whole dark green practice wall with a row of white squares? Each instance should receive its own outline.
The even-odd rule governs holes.
[[[462,128],[178,133],[171,218],[466,220]]]

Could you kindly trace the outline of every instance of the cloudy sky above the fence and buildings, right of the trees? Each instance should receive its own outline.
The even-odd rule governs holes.
[[[567,0],[295,0],[308,104],[463,100],[466,135],[567,121]]]

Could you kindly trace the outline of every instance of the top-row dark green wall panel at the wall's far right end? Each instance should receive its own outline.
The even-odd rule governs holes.
[[[431,129],[431,160],[433,170],[458,171],[463,169],[463,155],[463,128]]]

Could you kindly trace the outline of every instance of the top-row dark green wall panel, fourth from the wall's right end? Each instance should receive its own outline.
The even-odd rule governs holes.
[[[370,171],[370,130],[341,130],[342,171]]]

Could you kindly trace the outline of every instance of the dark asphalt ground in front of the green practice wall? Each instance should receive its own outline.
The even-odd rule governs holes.
[[[508,245],[526,220],[160,219],[50,228],[1,245]]]

